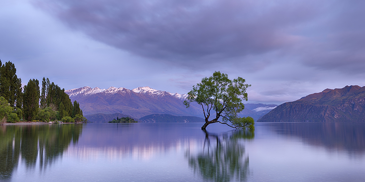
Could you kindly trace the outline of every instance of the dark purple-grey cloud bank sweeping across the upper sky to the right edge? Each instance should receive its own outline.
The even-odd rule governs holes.
[[[363,1],[34,2],[95,40],[178,65],[193,61],[215,63],[277,51],[319,69],[360,72],[365,68]],[[272,59],[277,62],[282,58]],[[269,64],[260,57],[235,62]]]

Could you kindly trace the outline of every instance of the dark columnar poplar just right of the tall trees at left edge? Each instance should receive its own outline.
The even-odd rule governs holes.
[[[23,118],[27,121],[32,121],[38,113],[39,109],[39,82],[37,79],[29,80],[27,85],[24,85],[23,94]]]

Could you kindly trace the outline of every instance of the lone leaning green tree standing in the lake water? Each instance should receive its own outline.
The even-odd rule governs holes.
[[[209,124],[217,122],[236,129],[255,130],[252,117],[237,116],[245,108],[241,101],[242,99],[247,101],[246,89],[251,86],[244,83],[245,79],[241,77],[229,80],[227,74],[216,71],[213,76],[205,77],[201,79],[201,83],[193,86],[184,104],[187,108],[190,106],[190,102],[197,102],[201,105],[205,117],[205,124],[201,130],[205,130]],[[209,120],[210,116],[213,116],[213,119]]]

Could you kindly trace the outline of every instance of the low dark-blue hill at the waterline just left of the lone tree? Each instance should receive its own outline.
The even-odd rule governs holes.
[[[141,117],[142,123],[196,123],[205,122],[201,117],[195,116],[172,116],[172,115],[148,115]]]

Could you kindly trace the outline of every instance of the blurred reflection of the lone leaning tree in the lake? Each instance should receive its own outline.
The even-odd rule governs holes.
[[[225,133],[222,138],[205,132],[202,152],[192,155],[186,152],[189,166],[199,172],[204,180],[213,182],[229,182],[231,180],[246,181],[249,158],[245,156],[245,148],[239,139],[252,139],[254,132],[236,130]],[[213,145],[211,145],[211,138]]]

